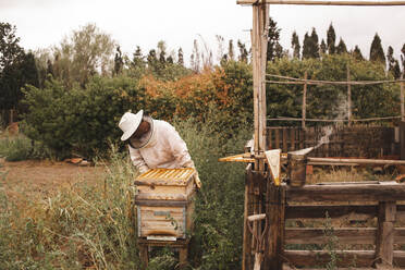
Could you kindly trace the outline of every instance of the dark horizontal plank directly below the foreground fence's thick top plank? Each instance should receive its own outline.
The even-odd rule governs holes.
[[[348,217],[353,220],[364,220],[377,216],[377,206],[287,206],[285,219],[324,219]]]

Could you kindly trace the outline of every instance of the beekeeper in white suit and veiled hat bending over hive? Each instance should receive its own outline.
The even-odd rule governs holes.
[[[140,173],[156,168],[195,169],[186,144],[168,122],[140,110],[136,114],[125,112],[119,126],[124,133],[121,140],[128,144],[131,160]],[[200,187],[198,174],[196,184]]]

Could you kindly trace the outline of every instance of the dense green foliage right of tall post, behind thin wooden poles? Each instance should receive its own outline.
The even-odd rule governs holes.
[[[324,56],[321,60],[280,59],[269,64],[268,73],[303,78],[304,73],[307,72],[310,79],[344,82],[347,79],[347,65],[351,81],[386,79],[385,72],[380,64],[357,61],[347,54]],[[365,119],[397,115],[398,95],[400,86],[395,84],[352,86],[353,116]],[[268,116],[300,118],[302,103],[303,85],[268,84]],[[347,112],[347,86],[309,85],[306,110],[308,119],[344,119]]]

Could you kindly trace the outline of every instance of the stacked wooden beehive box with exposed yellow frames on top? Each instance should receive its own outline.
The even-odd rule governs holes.
[[[192,168],[152,169],[135,180],[139,237],[186,238],[193,226],[195,175]]]

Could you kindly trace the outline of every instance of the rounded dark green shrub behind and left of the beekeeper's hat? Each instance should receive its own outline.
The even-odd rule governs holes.
[[[105,155],[109,143],[116,140],[122,114],[144,107],[144,90],[127,77],[94,77],[86,89],[65,89],[57,82],[44,89],[27,86],[24,102],[26,134],[57,152],[72,152],[93,158]]]

